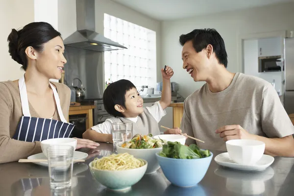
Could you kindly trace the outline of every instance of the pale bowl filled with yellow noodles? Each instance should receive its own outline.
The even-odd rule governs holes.
[[[112,154],[89,164],[93,177],[113,191],[126,192],[144,176],[147,161],[128,153]]]

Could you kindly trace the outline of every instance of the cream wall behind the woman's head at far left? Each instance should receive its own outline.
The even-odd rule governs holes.
[[[0,81],[18,79],[24,73],[8,53],[7,37],[12,28],[18,29],[33,21],[34,0],[0,0]]]

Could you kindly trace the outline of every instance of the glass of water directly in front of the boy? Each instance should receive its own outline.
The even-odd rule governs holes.
[[[113,151],[117,151],[117,143],[130,141],[132,139],[133,123],[112,123]]]

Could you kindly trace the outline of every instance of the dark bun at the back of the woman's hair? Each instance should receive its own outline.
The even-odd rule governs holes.
[[[9,48],[8,51],[13,60],[15,60],[21,65],[24,65],[24,62],[18,51],[18,48],[19,48],[18,40],[19,40],[18,31],[15,28],[13,28],[7,38],[8,48]]]

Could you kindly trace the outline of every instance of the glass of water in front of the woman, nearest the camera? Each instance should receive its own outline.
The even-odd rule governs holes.
[[[66,145],[47,148],[51,189],[65,189],[72,186],[73,151],[72,146]]]

